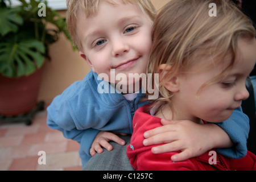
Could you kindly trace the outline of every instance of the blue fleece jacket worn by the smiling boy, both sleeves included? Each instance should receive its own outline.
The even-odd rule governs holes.
[[[96,73],[90,71],[84,80],[77,81],[55,97],[47,108],[47,125],[63,132],[65,138],[80,143],[82,166],[91,158],[90,147],[100,131],[133,133],[133,115],[139,107],[148,104],[141,102],[139,93],[133,101],[127,101],[122,94],[111,93],[109,85],[104,88],[109,93],[98,93]],[[249,133],[249,119],[241,108],[234,111],[230,121],[218,123],[235,143],[233,148],[219,149],[222,155],[241,158],[246,155],[246,140]]]

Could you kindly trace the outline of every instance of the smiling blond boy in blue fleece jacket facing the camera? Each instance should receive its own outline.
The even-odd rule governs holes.
[[[102,152],[101,146],[112,150],[106,140],[90,150],[96,136],[105,134],[104,131],[133,132],[133,114],[144,105],[140,101],[144,94],[100,94],[97,88],[102,80],[98,75],[106,73],[112,80],[110,70],[114,69],[115,74],[123,73],[129,79],[129,73],[144,72],[151,49],[155,8],[147,0],[70,0],[67,5],[69,32],[92,71],[53,100],[48,107],[47,123],[62,131],[64,137],[80,143],[84,166],[96,151]],[[113,133],[108,133],[108,140],[125,144]]]

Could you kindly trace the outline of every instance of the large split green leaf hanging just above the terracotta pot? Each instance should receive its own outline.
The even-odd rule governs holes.
[[[44,45],[37,40],[0,43],[0,72],[7,77],[30,75],[44,63]]]

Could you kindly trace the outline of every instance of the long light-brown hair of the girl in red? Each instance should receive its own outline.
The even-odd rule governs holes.
[[[216,4],[217,16],[209,16],[210,3]],[[251,20],[232,2],[170,1],[156,16],[152,28],[153,44],[146,73],[159,73],[161,64],[171,65],[170,72],[160,81],[159,97],[152,101],[152,107],[159,108],[170,103],[173,93],[164,88],[164,83],[177,73],[186,73],[192,65],[202,65],[202,61],[197,61],[200,57],[212,60],[210,63],[203,63],[208,64],[209,68],[213,64],[224,64],[224,57],[231,53],[232,60],[224,64],[228,65],[225,71],[205,85],[225,77],[234,65],[240,38],[255,38],[255,29]],[[213,59],[218,61],[213,63]],[[153,84],[154,82],[152,80]]]

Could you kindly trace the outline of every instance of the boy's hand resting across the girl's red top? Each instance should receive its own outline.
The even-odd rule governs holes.
[[[204,154],[215,147],[230,147],[232,142],[220,127],[214,124],[200,125],[195,122],[161,120],[164,126],[146,131],[144,146],[167,143],[152,147],[154,154],[181,151],[172,155],[171,160],[178,162]]]

